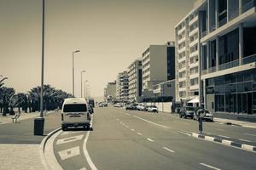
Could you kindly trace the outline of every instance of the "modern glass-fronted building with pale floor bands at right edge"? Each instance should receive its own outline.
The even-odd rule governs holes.
[[[201,4],[201,101],[219,113],[256,114],[256,1]]]

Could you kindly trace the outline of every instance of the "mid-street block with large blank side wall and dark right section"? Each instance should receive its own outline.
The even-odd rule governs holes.
[[[150,45],[143,53],[143,97],[153,96],[153,86],[175,78],[175,43]]]

